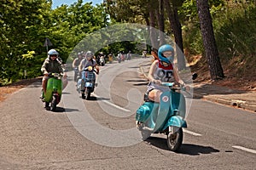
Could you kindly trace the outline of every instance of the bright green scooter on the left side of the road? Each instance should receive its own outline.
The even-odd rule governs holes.
[[[56,105],[61,101],[63,87],[61,77],[62,75],[59,73],[49,73],[46,94],[43,92],[43,102],[45,103],[45,108],[49,108],[50,111],[55,111]]]

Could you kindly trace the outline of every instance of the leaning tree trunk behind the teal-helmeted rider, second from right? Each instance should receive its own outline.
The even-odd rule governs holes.
[[[177,7],[170,5],[169,0],[164,0],[166,13],[171,24],[172,32],[176,42],[176,52],[177,52],[177,68],[179,71],[186,67],[185,58],[183,55],[183,36],[182,36],[182,26],[178,19]]]

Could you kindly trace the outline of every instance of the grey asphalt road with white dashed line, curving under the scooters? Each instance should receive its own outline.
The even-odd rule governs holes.
[[[92,99],[75,89],[73,72],[56,112],[38,98],[40,82],[0,104],[0,169],[255,169],[256,115],[189,99],[180,152],[166,136],[142,141],[135,111],[147,81],[143,59],[101,68]]]

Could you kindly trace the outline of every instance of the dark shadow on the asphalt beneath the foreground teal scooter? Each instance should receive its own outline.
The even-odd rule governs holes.
[[[146,140],[149,144],[154,145],[162,150],[169,150],[166,144],[166,139],[150,137]],[[219,152],[211,146],[201,146],[197,144],[182,144],[180,149],[177,151],[178,154],[184,154],[189,156],[199,156],[201,154],[212,154]]]

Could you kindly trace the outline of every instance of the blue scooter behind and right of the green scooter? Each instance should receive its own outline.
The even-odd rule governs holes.
[[[81,93],[82,99],[90,99],[90,94],[96,87],[96,70],[88,66],[82,72],[82,78],[77,83],[77,90]]]

